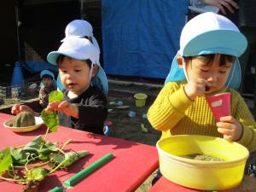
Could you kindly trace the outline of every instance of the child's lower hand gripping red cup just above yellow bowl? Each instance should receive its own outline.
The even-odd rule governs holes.
[[[241,138],[242,125],[234,117],[221,117],[217,123],[218,132],[224,135],[224,139],[228,141],[237,141]]]

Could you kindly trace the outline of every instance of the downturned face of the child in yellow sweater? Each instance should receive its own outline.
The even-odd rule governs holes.
[[[186,63],[188,79],[206,79],[211,84],[207,93],[222,89],[229,77],[233,61],[226,60],[224,63],[220,63],[220,61],[219,54],[214,56],[211,63],[204,56],[192,57]]]

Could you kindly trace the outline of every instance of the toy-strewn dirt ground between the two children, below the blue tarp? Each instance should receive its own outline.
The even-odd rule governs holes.
[[[146,86],[136,85],[110,85],[110,92],[108,96],[108,120],[113,123],[110,126],[110,136],[119,137],[126,140],[131,140],[138,143],[155,145],[160,138],[160,131],[155,131],[149,124],[147,119],[148,108],[154,102],[154,96],[157,95],[159,90],[148,88]],[[135,103],[134,93],[143,92],[148,95],[146,105],[142,108],[137,108]],[[114,104],[113,104],[114,102]],[[119,109],[116,104],[123,102],[122,106],[127,106],[125,109]],[[135,117],[130,117],[129,112],[136,113]],[[148,130],[144,132],[142,125]]]

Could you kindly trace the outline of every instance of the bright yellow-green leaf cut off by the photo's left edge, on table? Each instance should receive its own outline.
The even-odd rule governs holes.
[[[5,148],[3,151],[0,151],[0,175],[9,170],[9,167],[12,165],[13,160],[10,152],[10,148]]]

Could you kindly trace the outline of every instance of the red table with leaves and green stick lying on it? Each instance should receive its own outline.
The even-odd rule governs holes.
[[[12,118],[13,116],[9,114],[0,113],[0,150],[9,146],[24,145],[34,137],[44,135],[46,131],[43,125],[37,131],[15,133],[3,126],[4,120]],[[67,171],[58,171],[46,177],[40,184],[40,192],[49,191],[56,186],[61,187],[62,182],[108,153],[113,154],[113,160],[67,191],[134,191],[158,167],[156,148],[142,143],[104,137],[61,126],[59,131],[49,133],[47,137],[47,141],[59,143],[65,143],[68,139],[73,139],[73,142],[67,145],[67,149],[90,150],[90,154],[70,166]],[[20,184],[0,181],[0,191],[20,191],[22,188]]]

